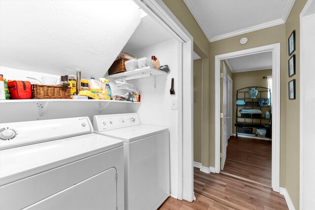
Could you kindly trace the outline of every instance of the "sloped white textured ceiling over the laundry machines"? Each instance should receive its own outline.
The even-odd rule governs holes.
[[[102,77],[142,13],[131,0],[1,0],[0,65]]]

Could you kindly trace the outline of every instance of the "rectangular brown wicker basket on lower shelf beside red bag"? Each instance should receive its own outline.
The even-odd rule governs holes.
[[[32,98],[51,99],[51,98],[70,98],[70,87],[54,85],[32,85]]]

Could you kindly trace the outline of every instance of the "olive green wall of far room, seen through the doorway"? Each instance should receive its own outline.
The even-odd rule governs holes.
[[[233,75],[233,109],[232,109],[232,122],[233,122],[233,133],[236,133],[234,123],[236,122],[236,90],[246,87],[264,87],[268,88],[267,79],[263,79],[264,76],[271,76],[272,69],[258,70],[258,71],[247,71],[232,73]],[[270,112],[270,111],[269,111]]]

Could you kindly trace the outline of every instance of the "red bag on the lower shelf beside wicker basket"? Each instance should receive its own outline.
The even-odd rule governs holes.
[[[10,99],[32,98],[32,85],[29,81],[8,81]]]

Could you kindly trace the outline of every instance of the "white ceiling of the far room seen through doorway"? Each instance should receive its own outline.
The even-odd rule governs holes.
[[[257,53],[225,60],[233,73],[272,68],[272,52]]]

